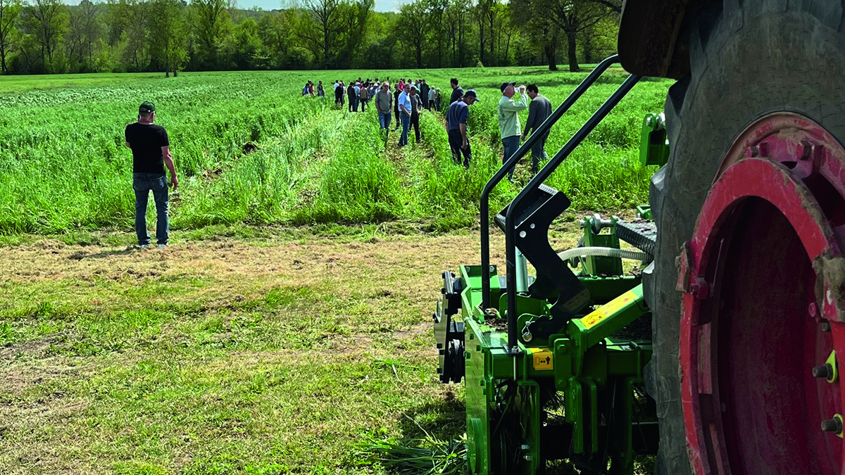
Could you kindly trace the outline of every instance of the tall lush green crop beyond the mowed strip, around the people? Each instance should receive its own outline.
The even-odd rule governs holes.
[[[444,231],[477,221],[478,195],[499,167],[501,145],[495,103],[503,79],[536,82],[554,105],[585,73],[541,68],[402,72],[425,76],[450,94],[449,78],[478,90],[470,134],[474,161],[455,167],[443,117],[424,114],[424,141],[384,149],[372,108],[349,114],[299,96],[305,79],[398,76],[397,72],[248,72],[86,74],[0,78],[0,233],[129,231],[134,216],[131,154],[123,128],[140,101],[155,101],[157,122],[171,137],[180,172],[172,196],[172,228],[210,225],[314,225],[414,221]],[[548,139],[553,154],[624,79],[608,73]],[[549,183],[563,189],[575,210],[619,210],[647,198],[653,172],[637,161],[641,119],[662,109],[667,82],[644,82],[591,134]],[[521,114],[525,120],[526,112]],[[259,147],[244,153],[248,142]],[[521,167],[527,167],[521,165]],[[504,206],[528,178],[501,184],[493,210]],[[154,210],[150,206],[150,220]]]

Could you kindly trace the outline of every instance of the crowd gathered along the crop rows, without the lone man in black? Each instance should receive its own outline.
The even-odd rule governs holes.
[[[466,120],[469,117],[469,106],[477,102],[478,96],[475,90],[461,88],[457,78],[450,79],[452,94],[449,99],[449,109],[446,112],[446,129],[449,135],[449,146],[455,163],[469,167],[472,161],[472,148],[469,136],[466,133]],[[352,79],[347,85],[342,80],[335,80],[335,105],[346,106],[348,112],[366,112],[370,101],[374,101],[376,111],[379,115],[379,128],[384,132],[385,137],[390,130],[390,122],[395,117],[395,130],[401,128],[398,145],[408,145],[408,134],[411,129],[417,142],[422,139],[420,134],[419,117],[424,110],[441,110],[442,100],[440,90],[433,88],[426,83],[425,79],[400,78],[391,82],[390,78],[379,80]],[[521,85],[519,97],[516,96],[517,88],[515,82],[505,82],[501,85],[502,97],[497,104],[499,115],[499,133],[502,140],[502,163],[504,164],[510,156],[519,150],[521,142],[526,141],[529,134],[532,134],[540,127],[552,113],[552,105],[548,99],[542,96],[537,85]],[[317,85],[308,81],[303,88],[303,96],[324,97],[323,81]],[[529,104],[530,100],[530,104]],[[518,113],[528,109],[528,119],[525,128],[520,127]],[[532,146],[532,173],[537,173],[539,162],[548,158],[545,151],[548,132],[537,139]],[[514,169],[511,167],[508,179],[513,181]]]

